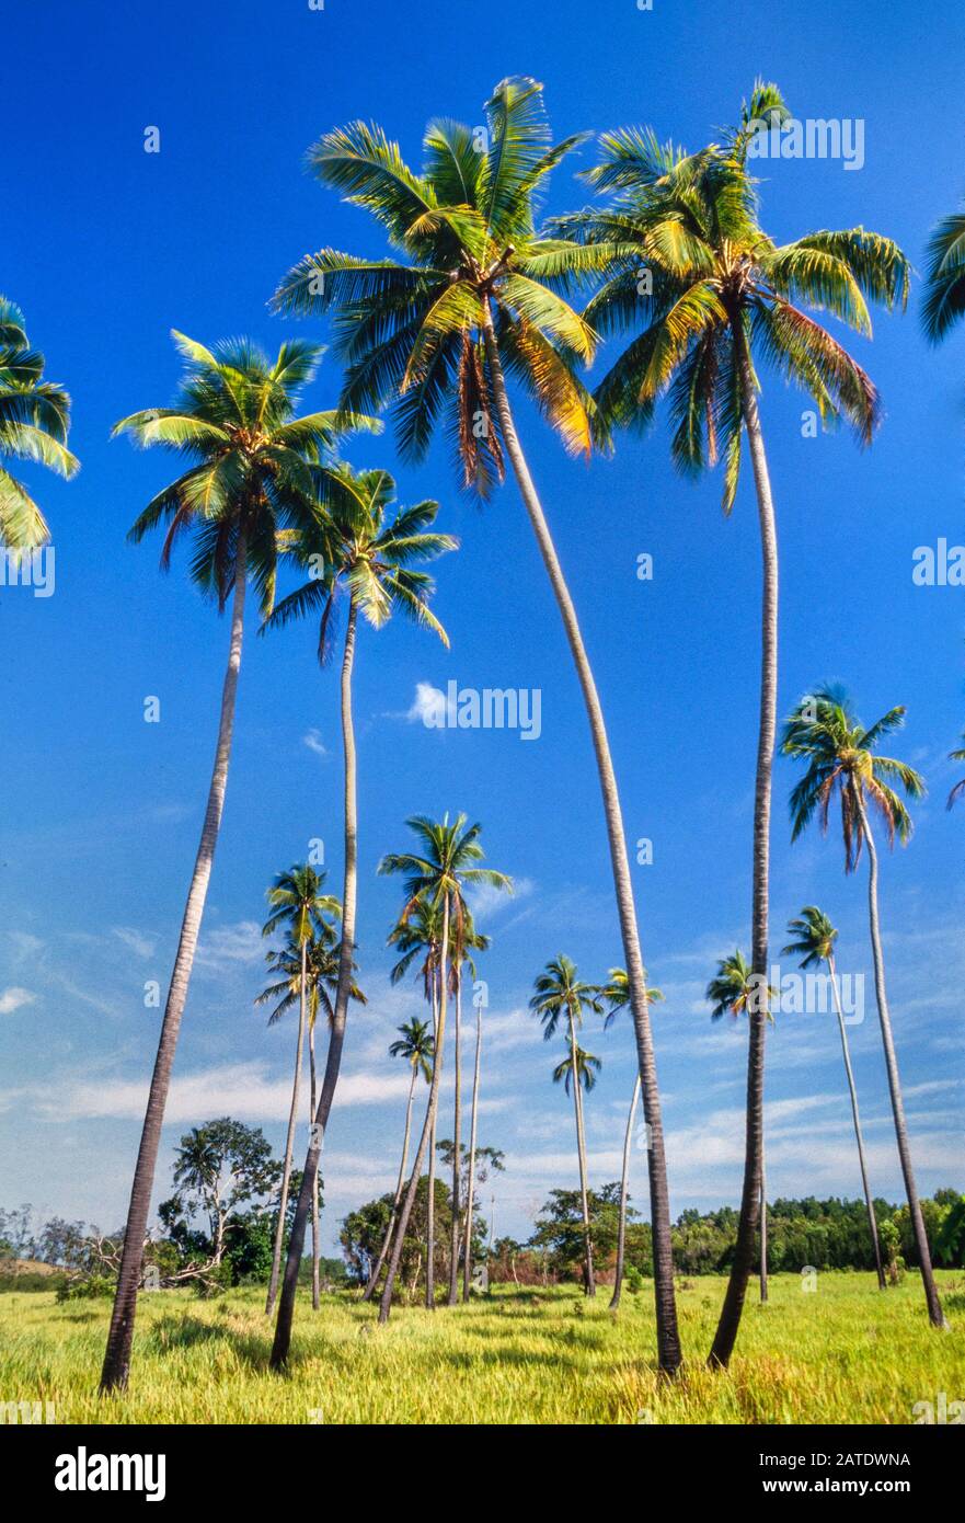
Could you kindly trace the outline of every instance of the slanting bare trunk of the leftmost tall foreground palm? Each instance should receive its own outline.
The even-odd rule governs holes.
[[[131,1186],[131,1203],[128,1206],[128,1221],[123,1234],[123,1250],[120,1255],[120,1270],[117,1275],[117,1290],[114,1293],[114,1310],[107,1339],[104,1368],[100,1371],[100,1392],[123,1390],[128,1384],[131,1369],[131,1343],[134,1340],[134,1317],[137,1313],[137,1287],[140,1284],[142,1260],[145,1256],[145,1234],[148,1231],[148,1211],[151,1209],[151,1191],[154,1188],[154,1170],[164,1124],[164,1106],[167,1104],[167,1089],[170,1084],[170,1069],[181,1030],[181,1016],[187,1001],[198,932],[204,902],[212,877],[215,847],[218,845],[218,830],[224,810],[225,789],[228,784],[228,762],[231,757],[231,734],[234,730],[234,699],[237,694],[237,673],[240,670],[242,635],[245,624],[245,576],[247,547],[244,528],[237,536],[236,568],[234,568],[234,600],[231,605],[231,640],[228,644],[228,666],[221,694],[221,722],[218,725],[218,749],[215,751],[215,768],[209,787],[201,842],[195,859],[178,952],[175,956],[167,1004],[164,1007],[164,1022],[158,1042],[154,1074],[151,1075],[151,1090],[145,1125],[137,1151],[134,1168],[134,1183]]]

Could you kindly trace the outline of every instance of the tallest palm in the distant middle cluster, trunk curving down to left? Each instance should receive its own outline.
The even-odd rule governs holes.
[[[493,868],[478,867],[482,860],[479,845],[481,825],[469,825],[466,815],[457,815],[452,824],[449,815],[441,821],[428,819],[425,815],[414,815],[406,821],[423,848],[423,856],[414,851],[390,853],[379,862],[379,873],[402,873],[405,879],[405,906],[402,921],[408,921],[420,905],[429,905],[441,914],[441,929],[438,941],[438,1020],[435,1025],[435,1045],[432,1049],[432,1081],[429,1084],[429,1103],[426,1118],[416,1151],[416,1162],[409,1177],[402,1214],[396,1228],[396,1241],[388,1264],[388,1273],[382,1287],[379,1302],[379,1322],[388,1322],[393,1302],[393,1285],[399,1272],[402,1244],[412,1214],[412,1205],[419,1189],[419,1176],[429,1141],[435,1141],[435,1113],[438,1109],[438,1086],[443,1072],[443,1052],[446,1040],[446,1004],[449,995],[449,940],[454,934],[455,946],[461,946],[463,926],[466,921],[467,888],[489,885],[490,888],[511,892],[511,879]],[[428,1244],[429,1258],[426,1275],[432,1275],[432,1243]],[[432,1302],[429,1302],[432,1304]]]

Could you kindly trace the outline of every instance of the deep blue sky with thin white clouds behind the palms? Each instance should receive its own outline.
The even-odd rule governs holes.
[[[734,120],[755,75],[776,79],[799,117],[865,120],[865,166],[761,164],[764,222],[790,239],[817,227],[897,238],[921,268],[932,224],[965,190],[960,8],[814,0],[807,8],[633,0],[592,8],[492,0],[306,0],[163,8],[50,0],[43,26],[20,8],[5,26],[5,228],[0,289],[26,311],[49,375],[75,399],[73,483],[29,472],[53,525],[56,592],[0,589],[0,1199],[94,1220],[123,1217],[164,984],[201,824],[227,649],[224,620],[167,577],[154,544],[129,547],[134,516],[170,461],[108,439],[135,408],[164,405],[178,376],[167,332],[202,341],[247,332],[277,346],[297,332],[266,312],[283,271],[324,244],[381,247],[364,213],[303,174],[307,145],[353,117],[382,122],[419,161],[431,116],[470,123],[493,84],[531,73],[557,137],[650,122],[688,146]],[[161,134],[143,151],[145,128]],[[557,172],[548,210],[586,200]],[[782,554],[781,707],[840,678],[869,719],[909,705],[893,749],[930,783],[907,851],[883,865],[895,1033],[919,1186],[962,1185],[960,860],[965,813],[947,815],[945,754],[965,720],[963,592],[912,583],[912,553],[965,541],[965,332],[925,346],[918,285],[906,317],[878,315],[854,340],[884,399],[868,452],[845,434],[804,439],[807,401],[764,376],[761,401]],[[329,353],[307,401],[332,405]],[[715,959],[747,944],[756,722],[758,542],[749,471],[734,515],[720,484],[682,481],[667,429],[621,442],[592,466],[565,457],[519,407],[533,472],[571,577],[595,663],[627,833],[653,841],[635,870],[644,955],[665,1004],[654,1013],[673,1211],[735,1202],[743,1159],[744,1031],[711,1025]],[[390,437],[347,451],[397,460]],[[461,539],[438,565],[444,652],[412,627],[359,640],[359,961],[368,1010],[352,1017],[326,1144],[326,1243],[352,1205],[390,1188],[405,1074],[385,1049],[422,1013],[388,985],[385,934],[397,885],[374,876],[416,812],[466,810],[484,825],[513,902],[479,906],[493,937],[481,1141],[507,1154],[496,1231],[528,1235],[554,1185],[572,1185],[571,1109],[549,1081],[554,1049],[527,1013],[533,976],[566,950],[588,978],[619,961],[606,839],[575,681],[514,487],[482,512],[460,498],[447,448],[397,468],[402,501],[435,496]],[[654,559],[651,582],[638,554]],[[434,731],[405,716],[417,684],[537,687],[542,736]],[[161,722],[143,722],[146,696]],[[307,737],[307,739],[306,739]],[[318,748],[324,754],[320,754]],[[845,880],[831,838],[788,844],[791,769],[775,775],[773,946],[801,905],[840,926],[840,966],[868,975],[851,1028],[875,1193],[900,1197],[866,952],[865,879]],[[253,1010],[259,924],[272,874],[327,845],[341,891],[336,682],[309,629],[250,631],[222,839],[178,1048],[158,1191],[189,1125],[230,1112],[283,1141],[294,1027]],[[603,1058],[588,1103],[592,1180],[616,1177],[633,1083],[629,1025],[586,1045]],[[452,1071],[449,1066],[449,1081]],[[447,1109],[447,1101],[443,1104]],[[443,1127],[446,1122],[443,1122]],[[837,1033],[825,1016],[779,1017],[767,1078],[772,1194],[855,1194]],[[645,1205],[644,1156],[635,1194]],[[484,1202],[489,1209],[489,1200]]]

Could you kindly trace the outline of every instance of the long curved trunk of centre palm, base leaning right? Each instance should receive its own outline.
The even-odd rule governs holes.
[[[613,758],[606,734],[603,708],[597,684],[580,634],[577,611],[566,586],[563,568],[560,567],[556,545],[549,533],[549,525],[542,509],[542,503],[533,484],[527,458],[522,452],[510,399],[502,375],[499,344],[493,327],[489,303],[482,308],[484,340],[489,367],[493,381],[493,398],[499,416],[499,429],[507,454],[513,465],[513,474],[524,500],[536,542],[539,545],[549,585],[563,620],[566,640],[572,655],[586,714],[589,719],[597,771],[600,774],[600,790],[603,795],[603,812],[606,816],[607,841],[610,848],[610,865],[613,871],[613,886],[616,891],[616,909],[619,914],[619,931],[623,938],[624,966],[630,988],[630,1007],[633,1011],[633,1028],[636,1033],[636,1057],[644,1094],[644,1116],[647,1121],[647,1165],[650,1174],[650,1218],[653,1231],[653,1285],[656,1298],[656,1330],[658,1355],[661,1371],[673,1375],[680,1368],[683,1359],[680,1351],[680,1334],[677,1330],[677,1307],[673,1284],[673,1247],[670,1238],[670,1196],[667,1191],[667,1159],[664,1156],[664,1124],[661,1118],[661,1092],[656,1078],[656,1060],[653,1054],[653,1033],[650,1030],[650,1004],[647,999],[647,979],[644,975],[644,959],[639,949],[639,934],[636,929],[636,908],[633,905],[633,886],[630,883],[630,864],[627,859],[627,842],[619,812],[619,793],[613,774]]]

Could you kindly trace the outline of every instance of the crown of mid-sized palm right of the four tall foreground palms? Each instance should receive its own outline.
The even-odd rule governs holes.
[[[868,730],[855,716],[846,694],[837,687],[819,687],[801,701],[784,725],[781,749],[801,757],[807,771],[790,797],[791,839],[817,812],[822,830],[836,795],[842,806],[845,871],[852,873],[861,854],[865,830],[861,809],[871,803],[884,822],[889,845],[895,836],[904,845],[912,835],[912,816],[892,783],[909,798],[921,798],[924,778],[907,763],[875,754],[878,742],[901,730],[904,705],[889,708]]]

